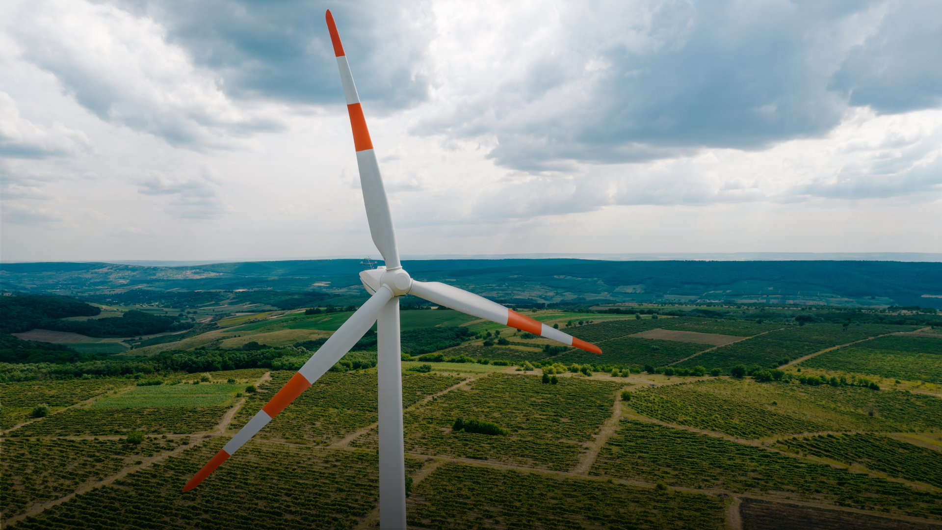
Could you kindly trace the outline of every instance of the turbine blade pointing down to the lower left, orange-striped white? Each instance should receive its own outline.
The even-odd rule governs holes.
[[[366,330],[376,322],[382,306],[393,298],[393,291],[386,286],[382,286],[373,296],[366,301],[355,313],[350,315],[347,322],[343,323],[339,329],[333,332],[333,335],[324,345],[317,350],[317,354],[312,356],[300,367],[298,373],[294,374],[282,389],[278,390],[268,401],[268,404],[252,417],[242,429],[235,434],[229,443],[225,444],[215,456],[213,456],[199,472],[189,479],[184,491],[194,489],[203,482],[209,473],[214,472],[219,464],[225,462],[229,456],[245,445],[245,442],[252,439],[255,433],[262,430],[262,427],[268,425],[272,418],[284,410],[285,406],[291,404],[301,392],[310,387],[317,379],[340,360],[340,357],[347,354],[350,348],[356,344],[357,340],[363,337]]]

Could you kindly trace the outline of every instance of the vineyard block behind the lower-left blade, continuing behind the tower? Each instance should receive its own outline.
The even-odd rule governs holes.
[[[272,372],[271,381],[259,387],[236,413],[230,429],[242,428],[271,396],[294,376],[293,372]],[[412,406],[428,395],[463,381],[463,377],[431,373],[403,374],[402,405]],[[287,406],[262,431],[284,439],[333,443],[349,433],[377,421],[377,375],[364,373],[324,373],[314,385]]]

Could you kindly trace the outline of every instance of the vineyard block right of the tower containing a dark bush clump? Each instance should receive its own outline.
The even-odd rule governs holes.
[[[568,471],[609,419],[621,383],[577,377],[493,373],[406,411],[406,451],[511,462]],[[457,418],[495,422],[508,436],[454,433]]]

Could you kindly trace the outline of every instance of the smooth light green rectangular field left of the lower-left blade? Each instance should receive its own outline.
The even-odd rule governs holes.
[[[102,396],[89,406],[96,408],[165,408],[230,405],[235,393],[245,389],[238,384],[153,385],[138,387],[118,395]]]

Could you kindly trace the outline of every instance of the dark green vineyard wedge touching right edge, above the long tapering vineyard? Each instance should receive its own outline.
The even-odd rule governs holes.
[[[856,462],[870,470],[905,480],[942,487],[939,452],[889,437],[858,433],[780,440],[785,451],[823,456],[850,466]]]

